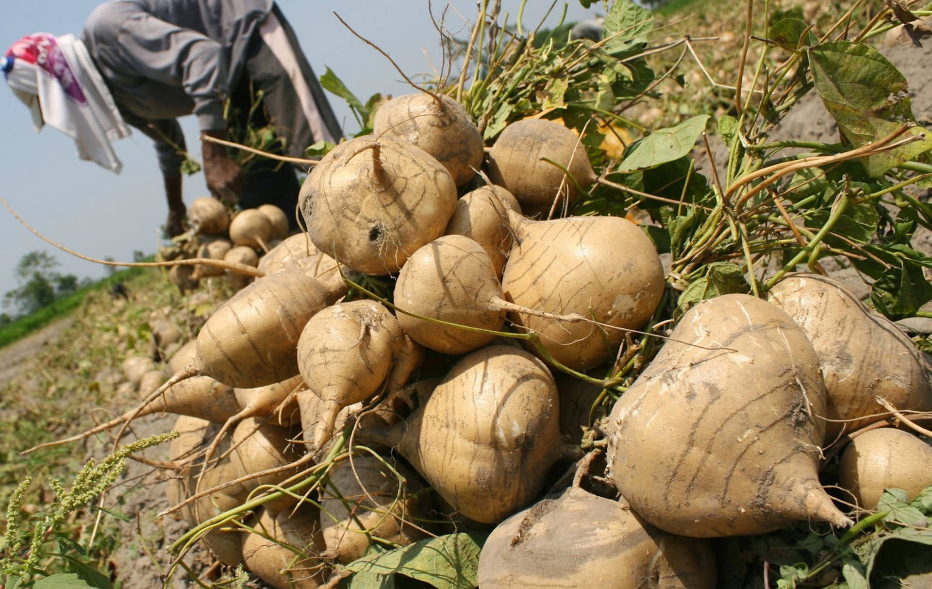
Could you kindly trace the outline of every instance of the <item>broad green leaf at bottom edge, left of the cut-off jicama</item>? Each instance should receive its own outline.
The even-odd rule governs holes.
[[[472,589],[478,583],[476,569],[485,539],[485,534],[475,532],[429,538],[391,552],[363,556],[349,563],[347,569],[356,573],[402,574],[434,587]]]

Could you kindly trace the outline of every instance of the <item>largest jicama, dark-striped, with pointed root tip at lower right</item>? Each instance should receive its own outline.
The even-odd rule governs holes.
[[[723,295],[670,338],[610,415],[610,477],[632,508],[693,537],[849,525],[819,485],[825,389],[788,315]]]

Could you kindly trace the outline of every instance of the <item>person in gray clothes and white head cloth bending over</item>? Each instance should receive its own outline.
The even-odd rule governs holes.
[[[10,89],[33,113],[75,139],[78,157],[119,173],[111,142],[127,123],[156,142],[169,235],[182,232],[185,137],[176,118],[194,114],[220,139],[247,124],[274,127],[277,151],[301,157],[341,136],[295,33],[272,0],[114,0],[94,9],[80,38],[36,33],[0,58]],[[261,105],[253,108],[257,97]],[[229,99],[227,106],[226,99]],[[253,113],[250,117],[250,113]],[[281,142],[280,142],[281,143]],[[211,194],[243,208],[279,206],[294,224],[295,169],[260,160],[246,173],[226,147],[201,143]]]

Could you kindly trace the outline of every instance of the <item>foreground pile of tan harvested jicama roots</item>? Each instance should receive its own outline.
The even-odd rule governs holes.
[[[189,540],[274,587],[336,582],[374,546],[464,529],[492,530],[482,587],[715,587],[706,539],[849,527],[849,506],[932,484],[932,447],[893,427],[855,437],[838,480],[819,478],[823,449],[884,404],[932,410],[925,361],[893,323],[836,281],[790,274],[654,329],[667,284],[647,233],[548,219],[596,180],[556,122],[514,122],[486,154],[459,103],[391,100],[373,135],[309,173],[306,233],[274,245],[234,231],[240,212],[238,248],[200,256],[267,250],[265,276],[95,431],[180,414],[173,511]],[[389,277],[391,302],[361,276]],[[662,348],[593,422],[645,331]],[[153,371],[132,364],[134,381]],[[840,500],[823,486],[836,483]]]

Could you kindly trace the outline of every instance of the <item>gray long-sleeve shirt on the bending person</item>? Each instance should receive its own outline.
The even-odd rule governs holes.
[[[185,137],[175,120],[226,129],[224,99],[273,0],[113,0],[96,7],[82,40],[130,125],[156,141],[177,175]]]

